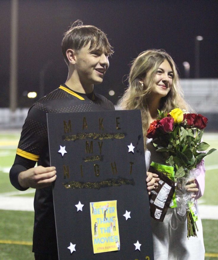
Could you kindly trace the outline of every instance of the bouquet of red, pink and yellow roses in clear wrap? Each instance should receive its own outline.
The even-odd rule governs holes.
[[[169,113],[158,110],[158,119],[150,124],[147,138],[153,138],[152,144],[157,152],[166,154],[166,163],[175,169],[177,182],[176,202],[177,213],[187,214],[187,237],[196,236],[198,230],[195,221],[194,198],[185,190],[190,179],[199,174],[198,165],[202,159],[216,151],[202,141],[203,129],[208,119],[200,114],[190,114],[175,108]]]

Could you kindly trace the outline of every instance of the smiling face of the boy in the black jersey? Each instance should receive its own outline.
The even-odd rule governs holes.
[[[90,42],[76,52],[75,69],[82,85],[100,84],[109,67],[108,56],[102,51],[90,50]]]

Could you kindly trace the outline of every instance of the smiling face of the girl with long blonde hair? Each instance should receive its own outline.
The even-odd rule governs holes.
[[[149,78],[145,77],[144,84],[148,86]],[[162,62],[156,74],[154,75],[154,83],[151,87],[151,94],[158,95],[160,98],[165,97],[173,84],[173,70],[169,64],[169,62],[165,59]]]

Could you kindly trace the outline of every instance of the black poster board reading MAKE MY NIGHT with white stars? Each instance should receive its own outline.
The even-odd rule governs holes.
[[[58,113],[47,118],[50,162],[57,171],[53,200],[59,259],[154,259],[140,111]],[[75,206],[79,201],[82,210]],[[119,243],[119,250],[93,251],[93,243],[105,246],[104,238],[93,242],[98,234],[91,225],[91,202],[99,201],[116,201],[119,238],[110,239]],[[103,209],[99,211],[101,233],[107,221]]]

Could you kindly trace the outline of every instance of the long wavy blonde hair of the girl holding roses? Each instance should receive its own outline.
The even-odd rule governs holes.
[[[149,112],[148,102],[151,87],[155,82],[155,74],[157,69],[164,60],[167,60],[173,70],[173,84],[169,93],[161,98],[159,110],[169,112],[174,108],[192,111],[184,100],[184,95],[179,83],[179,77],[176,70],[176,64],[168,53],[164,50],[147,50],[139,54],[133,60],[129,72],[129,86],[121,97],[119,105],[122,109],[140,109],[142,116],[142,127],[144,137],[144,147],[146,149],[146,134],[149,128]],[[140,83],[148,78],[148,86]]]

